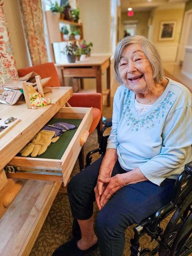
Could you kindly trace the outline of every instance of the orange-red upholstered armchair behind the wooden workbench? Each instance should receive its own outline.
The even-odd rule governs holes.
[[[36,65],[28,68],[18,69],[19,77],[25,76],[31,71],[36,72],[41,78],[50,77],[51,79],[46,84],[47,87],[60,86],[59,77],[57,75],[56,68],[53,63],[45,63]],[[89,135],[97,128],[98,135],[99,131],[102,128],[102,94],[101,93],[74,93],[73,96],[69,99],[68,103],[72,107],[84,107],[90,108],[93,107],[93,122],[89,129]],[[81,159],[82,158],[82,159]],[[81,155],[79,156],[79,162],[81,162],[80,169],[84,167],[84,159],[83,159],[83,150]]]

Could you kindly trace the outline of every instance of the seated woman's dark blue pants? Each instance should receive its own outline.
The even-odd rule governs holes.
[[[93,215],[94,187],[97,184],[102,157],[71,179],[68,196],[74,219]],[[117,161],[112,176],[125,173]],[[173,197],[175,180],[166,179],[160,186],[151,181],[138,182],[119,189],[102,208],[95,223],[102,256],[120,256],[125,246],[125,229],[139,223]]]

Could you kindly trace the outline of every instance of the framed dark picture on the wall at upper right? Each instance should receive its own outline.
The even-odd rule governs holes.
[[[159,40],[173,40],[176,29],[176,21],[162,21],[159,30]]]

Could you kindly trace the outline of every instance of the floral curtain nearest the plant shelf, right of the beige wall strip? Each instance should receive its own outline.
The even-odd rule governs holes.
[[[18,0],[33,65],[48,62],[41,0]]]

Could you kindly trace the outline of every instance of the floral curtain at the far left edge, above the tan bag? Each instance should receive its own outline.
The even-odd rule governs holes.
[[[18,73],[11,50],[4,3],[0,0],[0,84],[16,78]]]

